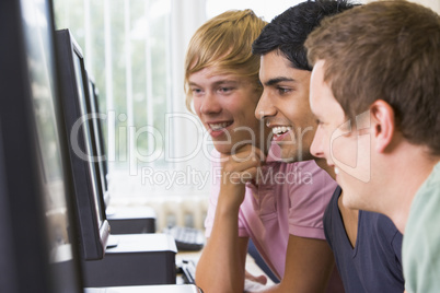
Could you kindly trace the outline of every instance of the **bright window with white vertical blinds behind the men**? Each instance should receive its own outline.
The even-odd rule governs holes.
[[[270,21],[294,4],[276,3],[54,0],[57,30],[72,32],[100,91],[113,198],[207,195],[212,145],[185,108],[187,44],[208,17],[225,10],[252,8]]]

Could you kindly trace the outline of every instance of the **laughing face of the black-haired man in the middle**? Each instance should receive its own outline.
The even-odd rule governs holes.
[[[310,71],[292,68],[277,50],[262,56],[264,92],[255,115],[273,130],[273,141],[286,162],[313,159],[309,150],[316,122],[309,105],[310,75]]]

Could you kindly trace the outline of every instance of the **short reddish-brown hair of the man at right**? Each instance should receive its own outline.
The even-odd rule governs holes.
[[[440,16],[407,1],[377,1],[325,19],[305,42],[348,118],[377,99],[398,130],[440,155]]]

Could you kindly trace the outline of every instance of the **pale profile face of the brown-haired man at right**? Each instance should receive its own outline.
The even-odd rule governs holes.
[[[346,115],[324,81],[324,61],[313,67],[310,90],[310,106],[319,120],[311,145],[311,153],[325,159],[335,169],[336,181],[344,189],[344,204],[348,208],[368,209],[371,198],[370,169],[370,113],[346,120]]]

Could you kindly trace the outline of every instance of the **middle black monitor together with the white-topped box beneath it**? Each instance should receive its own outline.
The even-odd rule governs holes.
[[[173,284],[176,247],[170,235],[112,235],[115,247],[106,245],[111,226],[89,119],[84,59],[68,30],[57,31],[56,40],[85,286]]]

